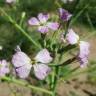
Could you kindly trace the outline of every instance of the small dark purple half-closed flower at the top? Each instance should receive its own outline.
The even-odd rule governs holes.
[[[72,14],[70,14],[67,10],[62,8],[59,8],[59,15],[63,21],[68,21],[72,17]]]

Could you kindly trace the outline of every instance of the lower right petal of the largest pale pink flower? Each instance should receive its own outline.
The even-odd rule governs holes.
[[[51,69],[45,64],[36,64],[34,67],[34,74],[39,80],[45,79]]]

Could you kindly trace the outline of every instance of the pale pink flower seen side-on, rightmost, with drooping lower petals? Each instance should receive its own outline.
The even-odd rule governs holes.
[[[85,41],[80,41],[79,36],[72,29],[68,30],[68,33],[66,35],[66,40],[71,45],[76,44],[76,43],[79,44],[80,51],[78,54],[78,60],[80,62],[81,67],[86,65],[88,63],[90,44]]]

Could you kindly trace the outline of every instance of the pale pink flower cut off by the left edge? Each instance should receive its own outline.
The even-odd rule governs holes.
[[[0,60],[0,77],[5,76],[9,72],[9,63],[6,60]]]

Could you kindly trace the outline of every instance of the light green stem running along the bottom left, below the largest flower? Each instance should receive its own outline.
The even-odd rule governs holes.
[[[22,85],[22,86],[25,86],[27,88],[30,88],[30,89],[33,89],[33,90],[36,90],[36,91],[44,92],[44,93],[49,94],[49,95],[53,94],[51,91],[48,91],[46,89],[30,85],[27,82],[24,82],[24,81],[21,81],[21,80],[17,80],[15,78],[10,78],[10,77],[5,76],[5,77],[2,78],[2,80],[8,81],[8,82],[13,82],[13,83],[16,83],[18,85]]]

